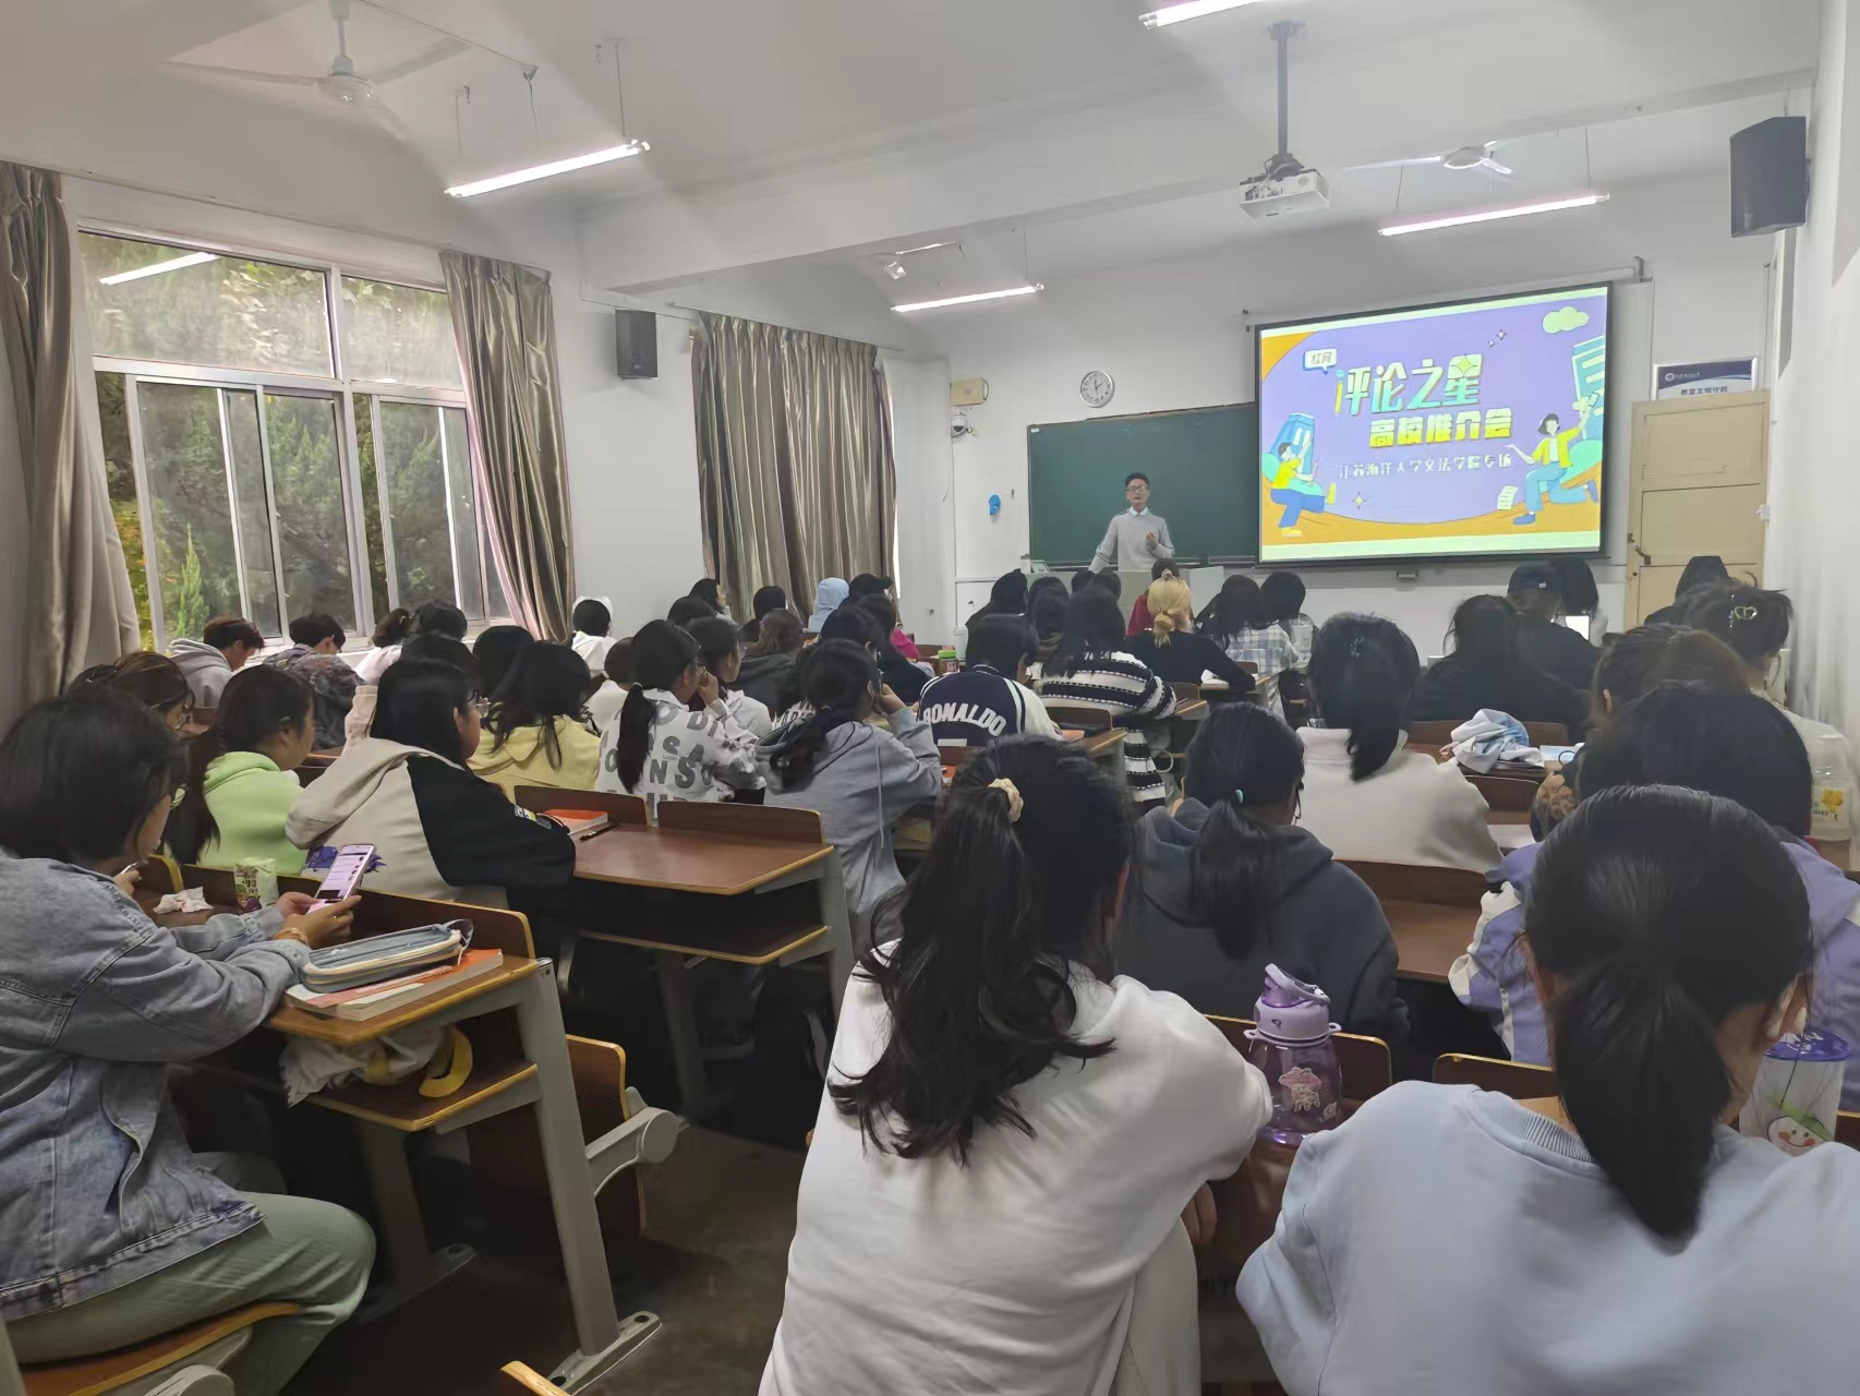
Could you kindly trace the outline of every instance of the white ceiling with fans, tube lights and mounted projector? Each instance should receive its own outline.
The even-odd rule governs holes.
[[[917,296],[1017,272],[1023,229],[1027,266],[1056,277],[1375,221],[1397,190],[1404,212],[1436,210],[1722,169],[1730,130],[1782,110],[1819,41],[1817,0],[1267,0],[1149,32],[1151,4],[355,0],[357,69],[417,67],[381,84],[376,121],[199,71],[326,73],[324,0],[17,0],[0,158],[432,240],[528,220],[616,290],[794,259],[863,275],[863,251],[958,233],[963,257],[897,283]],[[1265,26],[1287,17],[1308,26],[1291,145],[1335,203],[1259,229],[1235,186],[1274,145]],[[418,65],[448,34],[472,47]],[[616,37],[647,156],[469,207],[441,195],[612,143]],[[1514,184],[1345,171],[1482,140]]]

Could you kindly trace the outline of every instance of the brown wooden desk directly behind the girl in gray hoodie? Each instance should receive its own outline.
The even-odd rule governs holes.
[[[852,977],[852,912],[839,851],[809,810],[666,804],[660,821],[707,828],[610,828],[575,845],[577,938],[653,953],[671,1039],[681,1113],[698,1117],[709,1083],[690,960],[796,964],[826,955],[833,1011]],[[744,830],[761,830],[755,836]],[[573,942],[564,951],[564,992]],[[578,992],[588,992],[577,985]]]

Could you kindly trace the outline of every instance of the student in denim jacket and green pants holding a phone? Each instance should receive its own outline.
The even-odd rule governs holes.
[[[353,903],[151,921],[112,877],[160,845],[182,772],[173,733],[121,692],[39,704],[0,743],[0,1322],[35,1364],[301,1305],[227,1366],[240,1396],[268,1396],[355,1312],[374,1236],[283,1197],[262,1160],[193,1154],[167,1067],[259,1027]]]

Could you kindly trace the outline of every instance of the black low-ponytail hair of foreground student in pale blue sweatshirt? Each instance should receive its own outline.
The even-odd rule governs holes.
[[[1802,879],[1732,800],[1616,789],[1544,843],[1525,938],[1570,1124],[1641,1223],[1683,1240],[1734,1091],[1713,1033],[1808,972]]]

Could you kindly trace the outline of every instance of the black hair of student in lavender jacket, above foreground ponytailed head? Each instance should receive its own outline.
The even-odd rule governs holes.
[[[1745,689],[1659,683],[1616,713],[1583,748],[1579,793],[1616,785],[1683,785],[1735,800],[1808,838],[1814,774],[1782,709]]]

